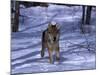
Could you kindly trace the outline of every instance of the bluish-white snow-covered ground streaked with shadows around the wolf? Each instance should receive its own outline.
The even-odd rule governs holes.
[[[21,8],[19,32],[11,34],[11,70],[15,73],[95,69],[95,9],[90,34],[79,30],[82,7],[49,5]],[[49,63],[48,52],[41,58],[41,35],[48,23],[60,25],[60,62]],[[87,39],[86,39],[87,38]],[[90,51],[87,49],[87,41]]]

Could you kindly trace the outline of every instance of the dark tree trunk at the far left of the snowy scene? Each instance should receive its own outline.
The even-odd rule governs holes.
[[[12,25],[12,32],[17,32],[19,27],[19,2],[15,2],[15,17],[14,24]]]

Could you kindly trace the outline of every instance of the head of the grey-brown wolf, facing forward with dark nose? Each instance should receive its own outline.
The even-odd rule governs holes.
[[[51,43],[58,41],[59,39],[59,27],[57,24],[49,24],[48,25],[48,38]]]

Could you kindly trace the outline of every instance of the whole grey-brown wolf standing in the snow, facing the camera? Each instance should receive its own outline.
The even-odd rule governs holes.
[[[56,60],[60,59],[59,54],[59,28],[58,26],[48,25],[48,28],[42,34],[42,50],[41,57],[44,57],[44,50],[48,49],[50,63],[53,62],[53,52],[56,52]]]

